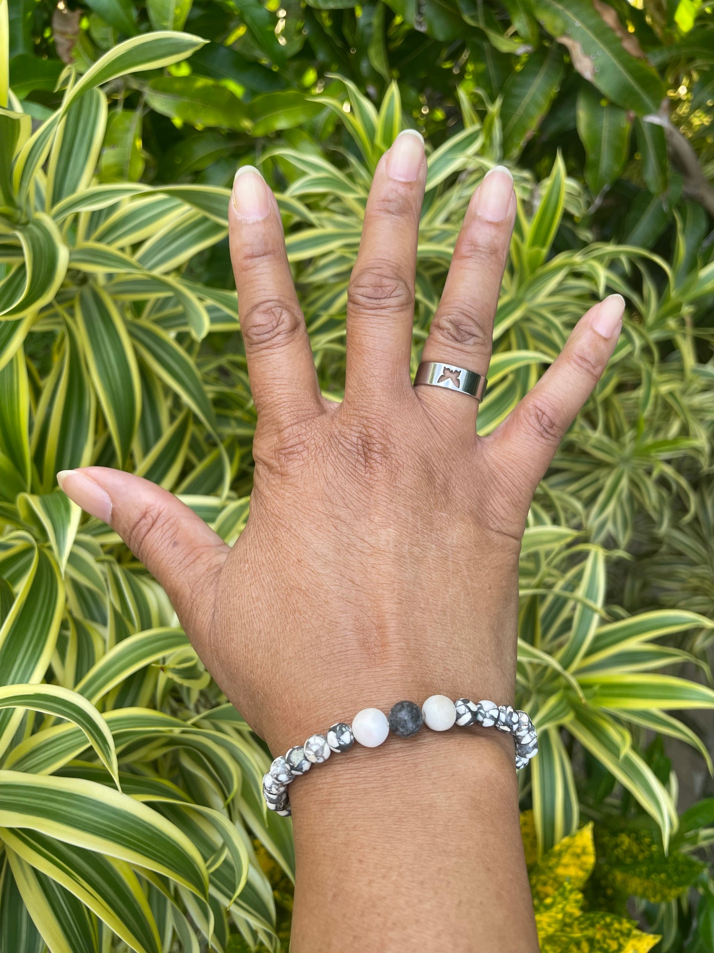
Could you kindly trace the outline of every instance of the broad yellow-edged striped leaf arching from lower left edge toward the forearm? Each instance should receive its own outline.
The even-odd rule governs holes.
[[[103,784],[0,771],[0,824],[147,867],[207,896],[206,868],[188,838],[145,804]]]

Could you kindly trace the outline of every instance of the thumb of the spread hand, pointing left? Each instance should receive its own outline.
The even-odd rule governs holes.
[[[141,476],[83,467],[57,482],[69,499],[115,530],[166,590],[191,634],[208,629],[227,544],[180,499]]]

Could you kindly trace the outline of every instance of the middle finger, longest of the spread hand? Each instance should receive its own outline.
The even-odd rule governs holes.
[[[347,291],[346,400],[410,386],[419,215],[426,182],[424,140],[400,132],[380,159]]]

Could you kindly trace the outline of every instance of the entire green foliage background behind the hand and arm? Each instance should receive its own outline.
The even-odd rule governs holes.
[[[140,473],[235,540],[255,413],[232,177],[258,165],[278,196],[340,399],[367,191],[403,128],[428,158],[414,368],[473,189],[513,172],[482,433],[598,297],[626,301],[521,558],[542,948],[714,950],[713,104],[695,0],[0,0],[0,953],[288,947],[267,748],[55,474]]]

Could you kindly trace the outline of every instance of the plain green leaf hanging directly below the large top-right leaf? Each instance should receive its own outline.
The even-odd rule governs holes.
[[[578,134],[585,147],[585,181],[593,195],[620,177],[629,155],[630,123],[627,112],[603,105],[591,87],[578,94]]]

